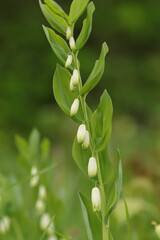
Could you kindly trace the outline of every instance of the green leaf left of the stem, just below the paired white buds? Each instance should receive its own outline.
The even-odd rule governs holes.
[[[88,177],[88,161],[92,154],[89,148],[87,150],[83,150],[81,144],[78,144],[77,142],[77,137],[75,137],[73,143],[72,155],[78,167]]]

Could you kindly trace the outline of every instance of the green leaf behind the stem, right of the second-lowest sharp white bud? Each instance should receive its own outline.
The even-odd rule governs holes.
[[[99,152],[98,155],[103,184],[106,184],[113,174],[113,166],[109,159],[108,146],[103,151]]]

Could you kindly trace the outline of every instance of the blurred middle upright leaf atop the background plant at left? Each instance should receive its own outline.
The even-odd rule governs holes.
[[[39,143],[40,143],[39,131],[37,129],[33,129],[29,137],[29,151],[31,153],[32,158],[34,159],[38,157]]]

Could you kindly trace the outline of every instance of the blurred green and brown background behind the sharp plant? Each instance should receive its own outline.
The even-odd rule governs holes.
[[[71,1],[57,2],[69,11]],[[110,51],[103,78],[87,101],[94,110],[104,88],[112,97],[110,156],[114,161],[116,149],[120,148],[132,237],[156,240],[150,223],[152,220],[160,223],[160,2],[94,3],[93,31],[80,53],[84,81],[103,41]],[[76,35],[84,16],[76,24]],[[32,128],[37,127],[41,136],[51,140],[52,157],[59,163],[54,171],[54,189],[70,211],[66,215],[70,221],[65,216],[61,228],[76,235],[84,231],[77,189],[89,192],[90,185],[86,187],[88,180],[71,155],[77,125],[58,108],[53,97],[52,77],[58,60],[42,24],[48,26],[38,0],[1,1],[0,169],[6,176],[21,176],[14,136],[19,133],[27,138]],[[112,218],[113,236],[126,239],[125,212],[118,214],[117,210]]]

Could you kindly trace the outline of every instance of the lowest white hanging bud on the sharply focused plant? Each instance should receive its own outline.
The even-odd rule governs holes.
[[[94,187],[92,189],[91,199],[92,199],[93,211],[94,212],[100,211],[101,210],[101,194],[100,194],[99,188]]]

